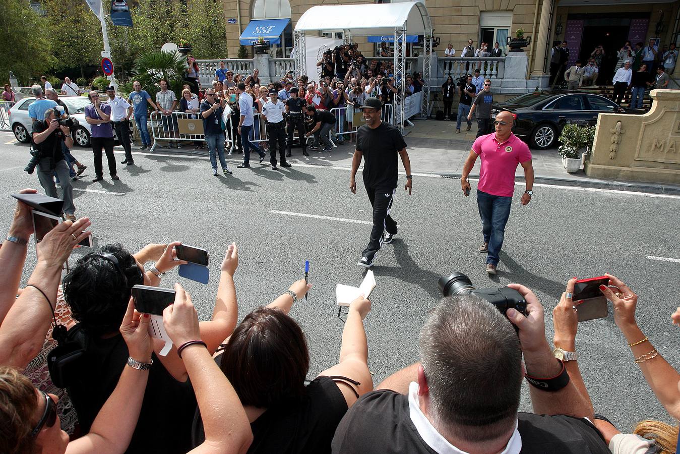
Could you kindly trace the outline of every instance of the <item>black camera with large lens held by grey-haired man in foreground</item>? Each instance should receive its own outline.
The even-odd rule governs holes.
[[[469,294],[486,299],[496,306],[496,309],[500,310],[500,313],[503,315],[505,315],[505,311],[509,308],[522,312],[524,317],[528,315],[526,312],[526,299],[524,299],[522,293],[510,287],[475,289],[470,278],[462,273],[454,273],[447,278],[441,276],[439,282],[437,282],[437,287],[439,287],[439,291],[444,296]]]

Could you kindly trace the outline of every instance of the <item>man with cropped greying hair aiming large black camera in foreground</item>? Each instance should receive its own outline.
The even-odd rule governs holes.
[[[541,303],[522,285],[508,287],[526,300],[526,316],[475,295],[441,299],[420,331],[422,363],[359,398],[333,453],[609,453],[588,396],[551,353]],[[536,414],[517,412],[525,376]]]

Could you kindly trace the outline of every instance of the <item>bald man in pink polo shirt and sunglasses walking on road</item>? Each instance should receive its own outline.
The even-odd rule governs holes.
[[[513,114],[507,111],[500,112],[494,120],[496,132],[481,135],[475,140],[460,177],[460,185],[467,197],[470,195],[470,183],[467,177],[475,166],[477,157],[481,157],[477,206],[479,206],[484,242],[479,247],[479,252],[488,253],[486,257],[488,274],[496,274],[498,253],[500,253],[500,246],[503,246],[505,224],[510,216],[510,202],[515,191],[517,164],[522,164],[524,167],[526,180],[522,205],[528,204],[533,194],[534,167],[531,164],[531,152],[529,147],[512,133],[514,123]]]

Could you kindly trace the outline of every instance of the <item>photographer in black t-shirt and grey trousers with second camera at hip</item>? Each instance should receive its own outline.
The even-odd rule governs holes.
[[[71,118],[60,119],[60,114],[61,110],[48,109],[45,111],[44,120],[33,122],[31,133],[31,155],[33,155],[33,158],[24,170],[32,174],[37,165],[40,186],[50,197],[57,197],[54,179],[52,178],[52,174],[56,173],[61,181],[61,198],[64,201],[63,217],[75,222],[73,215],[75,206],[73,206],[73,187],[69,179],[69,165],[65,161],[61,148],[62,144],[65,144],[67,148],[73,146],[73,138],[71,138],[71,129],[69,128],[69,125],[73,125],[73,120]]]

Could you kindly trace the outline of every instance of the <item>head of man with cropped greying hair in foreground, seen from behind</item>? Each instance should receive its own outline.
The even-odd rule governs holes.
[[[492,440],[512,430],[524,376],[510,321],[473,295],[445,297],[420,331],[428,417],[445,435]]]

